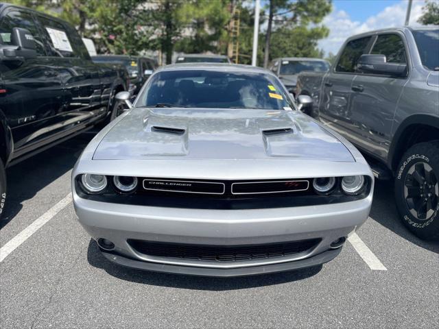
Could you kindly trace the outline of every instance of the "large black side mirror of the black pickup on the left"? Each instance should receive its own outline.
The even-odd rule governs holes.
[[[0,45],[0,58],[9,60],[24,60],[36,58],[34,36],[28,29],[14,27],[11,34],[12,45]]]

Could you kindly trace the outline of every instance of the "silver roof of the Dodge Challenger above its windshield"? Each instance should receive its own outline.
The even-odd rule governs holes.
[[[244,64],[228,64],[228,63],[179,63],[161,66],[159,71],[184,71],[184,70],[205,70],[205,71],[223,71],[223,72],[240,72],[240,73],[264,73],[273,75],[271,71],[263,69],[259,66],[251,66]]]

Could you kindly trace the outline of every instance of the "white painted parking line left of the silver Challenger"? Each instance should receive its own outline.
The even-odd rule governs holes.
[[[11,252],[13,252],[21,243],[25,242],[32,234],[38,231],[45,223],[50,221],[58,212],[64,209],[68,204],[70,204],[72,198],[71,193],[66,195],[58,204],[47,210],[43,215],[38,217],[32,224],[27,226],[23,231],[14,236],[8,243],[0,248],[0,263],[3,262]]]

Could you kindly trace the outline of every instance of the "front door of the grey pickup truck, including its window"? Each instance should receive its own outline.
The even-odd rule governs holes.
[[[385,55],[387,62],[407,64],[403,34],[379,34],[370,53]],[[355,143],[379,158],[387,158],[396,104],[407,77],[357,73],[352,85],[351,124]]]

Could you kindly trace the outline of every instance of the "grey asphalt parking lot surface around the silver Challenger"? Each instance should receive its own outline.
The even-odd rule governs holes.
[[[358,239],[323,266],[246,278],[150,273],[109,263],[76,219],[70,174],[91,138],[8,170],[1,328],[438,328],[439,243],[405,230],[390,182],[377,182]]]

